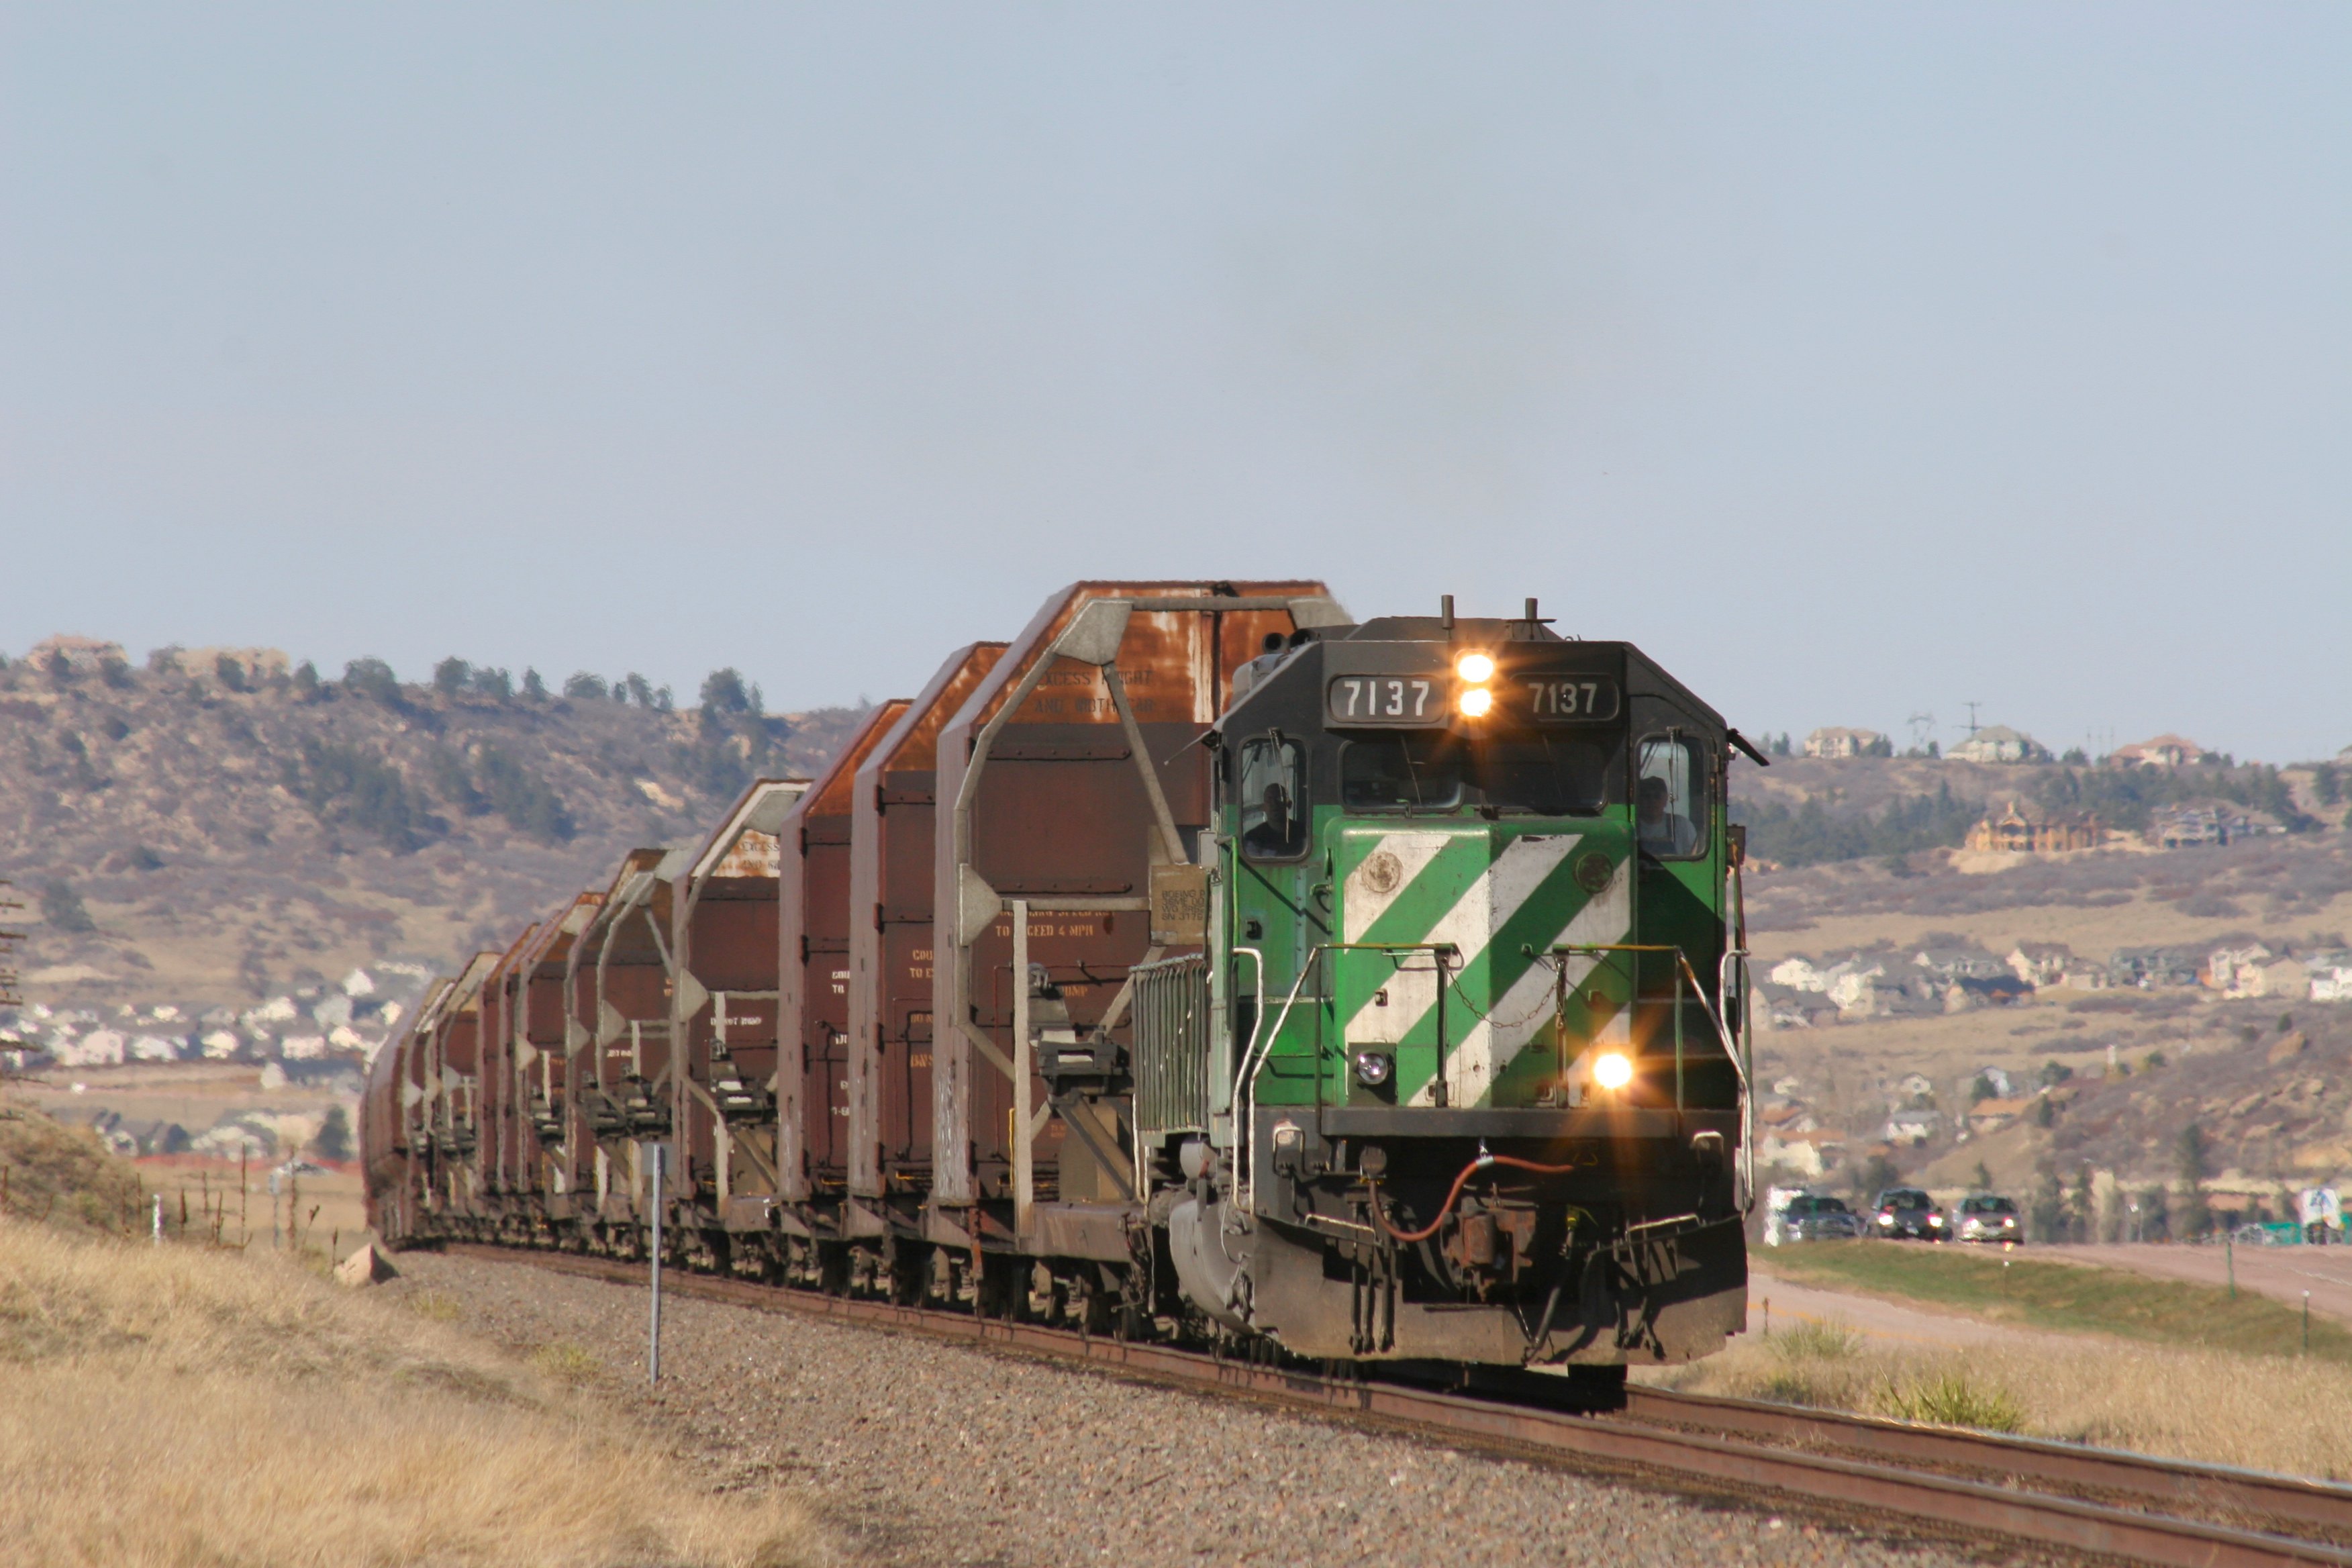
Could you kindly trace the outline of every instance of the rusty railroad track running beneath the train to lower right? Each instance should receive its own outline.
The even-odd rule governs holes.
[[[630,1286],[647,1276],[644,1265],[609,1258],[473,1244],[447,1251]],[[1566,1380],[1548,1373],[1486,1373],[1475,1387],[1317,1375],[708,1274],[666,1272],[663,1291],[1080,1361],[1442,1443],[1668,1479],[1773,1507],[1898,1519],[1938,1535],[1999,1535],[2166,1568],[2352,1568],[2352,1488],[2324,1481],[1644,1387],[1628,1389],[1623,1410],[1571,1410]]]

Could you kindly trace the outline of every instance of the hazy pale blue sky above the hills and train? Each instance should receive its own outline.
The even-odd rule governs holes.
[[[0,649],[889,696],[1077,576],[2352,741],[2340,5],[0,9]]]

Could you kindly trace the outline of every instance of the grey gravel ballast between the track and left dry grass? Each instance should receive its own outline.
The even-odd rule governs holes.
[[[1129,1382],[1096,1371],[687,1298],[644,1385],[642,1286],[405,1253],[520,1352],[593,1385],[717,1488],[781,1486],[847,1563],[1889,1563],[1966,1552]],[[583,1363],[567,1352],[567,1363]]]

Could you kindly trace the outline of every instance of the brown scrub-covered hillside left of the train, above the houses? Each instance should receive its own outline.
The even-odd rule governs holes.
[[[247,651],[181,668],[75,649],[0,668],[0,877],[31,1004],[249,1006],[383,959],[447,964],[809,773],[854,710],[762,715],[734,672],[673,710],[642,679],[452,661],[409,684]],[[111,1016],[111,1013],[108,1013]]]

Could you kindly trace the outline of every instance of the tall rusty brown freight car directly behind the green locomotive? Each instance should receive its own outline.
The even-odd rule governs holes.
[[[1343,621],[1310,581],[1077,583],[941,733],[927,1237],[955,1251],[936,1293],[976,1288],[957,1276],[976,1246],[1131,1258],[1112,1032],[1129,969],[1202,940],[1192,849],[1211,759],[1197,741],[1240,665]],[[1171,914],[1160,931],[1155,889]]]

